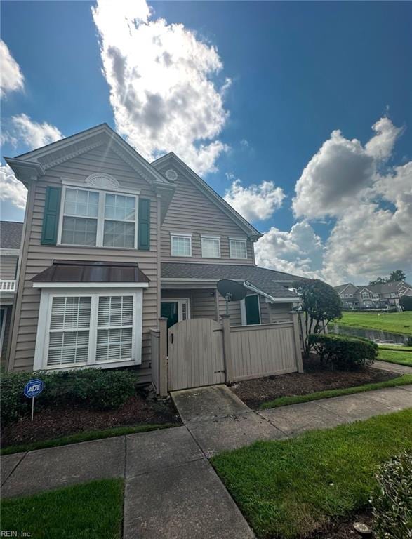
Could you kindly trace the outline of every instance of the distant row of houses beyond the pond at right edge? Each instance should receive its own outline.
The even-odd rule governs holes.
[[[355,286],[352,283],[335,286],[345,309],[397,307],[402,295],[412,295],[412,286],[406,281]]]

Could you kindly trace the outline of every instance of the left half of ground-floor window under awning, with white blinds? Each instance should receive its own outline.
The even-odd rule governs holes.
[[[84,365],[88,360],[91,298],[53,298],[47,365]]]

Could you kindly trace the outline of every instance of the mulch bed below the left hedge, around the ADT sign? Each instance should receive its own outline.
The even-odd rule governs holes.
[[[88,430],[180,422],[180,416],[170,399],[157,401],[152,392],[142,388],[118,410],[98,411],[67,407],[35,411],[33,422],[29,417],[25,417],[4,429],[1,446],[48,440]]]

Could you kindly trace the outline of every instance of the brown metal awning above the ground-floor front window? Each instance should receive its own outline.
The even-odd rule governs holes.
[[[34,275],[42,283],[148,283],[149,278],[131,262],[84,262],[53,260],[53,265]]]

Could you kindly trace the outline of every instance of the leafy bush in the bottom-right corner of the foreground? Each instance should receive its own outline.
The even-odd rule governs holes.
[[[412,454],[402,453],[380,467],[371,500],[376,539],[412,538]]]

